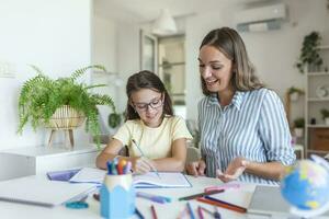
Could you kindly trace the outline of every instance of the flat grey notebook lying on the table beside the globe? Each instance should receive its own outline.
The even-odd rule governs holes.
[[[290,204],[282,197],[279,186],[256,186],[248,214],[290,217]],[[329,216],[329,211],[324,214]],[[327,217],[326,217],[327,218]]]

